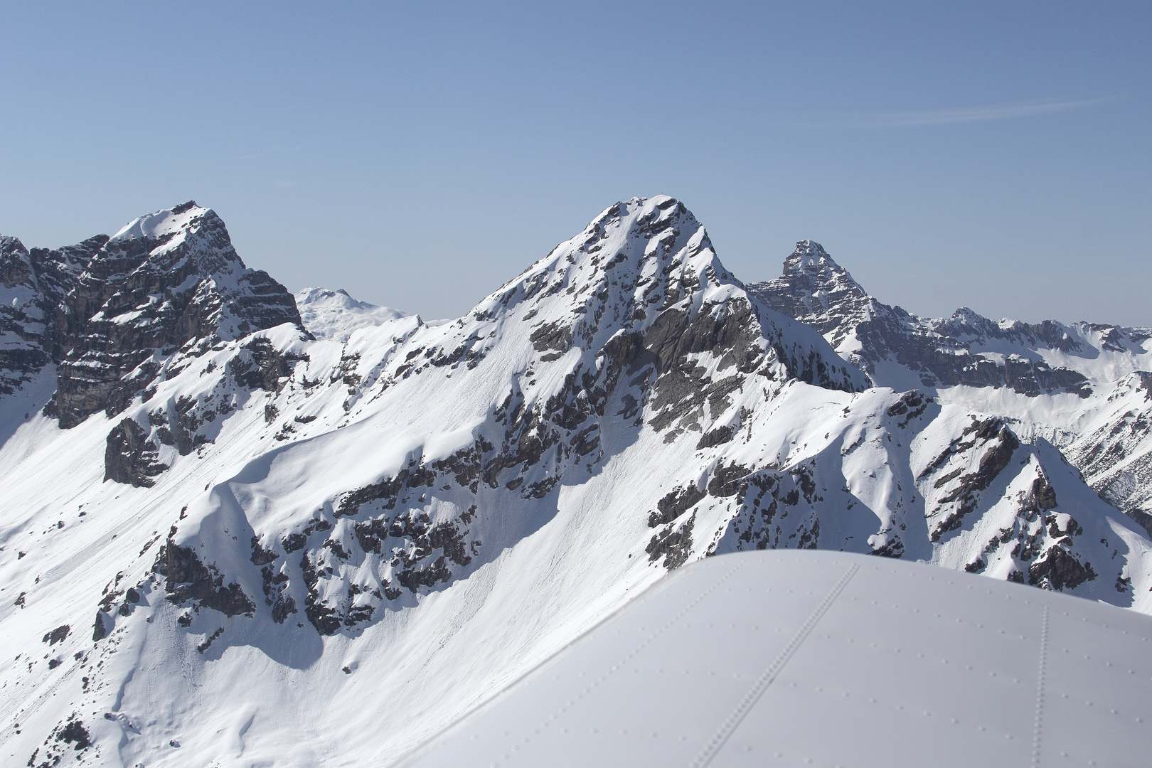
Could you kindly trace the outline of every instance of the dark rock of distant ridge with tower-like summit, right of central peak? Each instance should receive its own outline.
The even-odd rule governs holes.
[[[877,364],[892,360],[917,373],[924,387],[1008,387],[1029,396],[1092,394],[1083,374],[1052,368],[1038,355],[1008,355],[999,362],[972,351],[990,341],[1031,350],[1079,350],[1079,342],[1059,322],[1002,326],[969,309],[960,309],[946,319],[918,318],[870,296],[812,241],[796,243],[796,250],[785,260],[782,276],[750,283],[748,290],[778,312],[819,330],[873,379],[878,375]],[[884,380],[876,383],[888,385]]]

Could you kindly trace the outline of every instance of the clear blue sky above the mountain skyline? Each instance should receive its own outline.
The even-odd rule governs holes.
[[[1152,5],[5,3],[0,233],[196,199],[244,260],[456,315],[673,195],[745,281],[1152,325]]]

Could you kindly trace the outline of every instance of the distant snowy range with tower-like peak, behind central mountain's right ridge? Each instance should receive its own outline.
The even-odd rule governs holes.
[[[817,328],[874,385],[919,388],[1046,438],[1098,493],[1152,526],[1152,329],[994,321],[968,309],[919,318],[870,296],[812,241],[796,244],[780,277],[749,290]]]

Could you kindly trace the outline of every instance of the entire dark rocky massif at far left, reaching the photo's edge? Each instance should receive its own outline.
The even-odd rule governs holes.
[[[123,410],[177,350],[301,326],[293,295],[248,269],[223,221],[195,203],[54,251],[0,236],[0,395],[58,364],[45,412],[65,428]]]

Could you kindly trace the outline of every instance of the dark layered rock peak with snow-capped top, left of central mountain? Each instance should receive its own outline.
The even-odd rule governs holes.
[[[62,427],[116,413],[176,350],[300,325],[295,298],[244,267],[223,221],[179,205],[106,242],[56,311]]]

